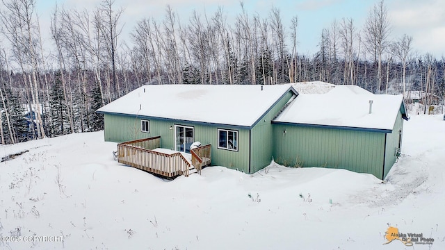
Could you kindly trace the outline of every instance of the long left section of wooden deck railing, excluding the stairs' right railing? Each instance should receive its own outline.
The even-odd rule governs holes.
[[[118,162],[146,172],[173,177],[189,175],[191,164],[181,153],[161,153],[151,149],[159,148],[161,137],[147,138],[118,144]]]

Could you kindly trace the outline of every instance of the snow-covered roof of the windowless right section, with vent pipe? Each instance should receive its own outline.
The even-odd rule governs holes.
[[[402,105],[401,94],[372,94],[355,85],[335,85],[323,94],[300,93],[273,122],[391,131]]]

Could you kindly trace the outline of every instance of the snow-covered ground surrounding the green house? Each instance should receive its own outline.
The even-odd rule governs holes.
[[[445,249],[445,121],[405,122],[382,183],[342,169],[207,167],[166,181],[103,132],[0,145],[0,249]],[[389,244],[389,226],[432,244]],[[9,236],[20,235],[15,242]]]

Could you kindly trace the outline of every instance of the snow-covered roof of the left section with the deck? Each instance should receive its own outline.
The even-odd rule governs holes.
[[[144,85],[97,112],[250,127],[289,91],[290,85]]]

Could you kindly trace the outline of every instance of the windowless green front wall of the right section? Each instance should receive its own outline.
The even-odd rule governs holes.
[[[283,131],[286,130],[284,134]],[[274,124],[277,163],[332,167],[382,178],[385,133]]]

